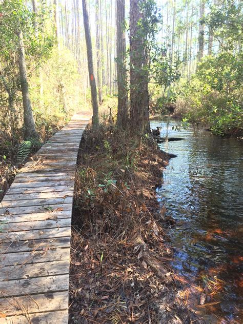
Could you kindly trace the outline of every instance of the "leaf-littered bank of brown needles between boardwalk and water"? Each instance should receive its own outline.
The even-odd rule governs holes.
[[[170,269],[156,187],[168,156],[110,128],[86,131],[75,183],[70,323],[199,323]]]

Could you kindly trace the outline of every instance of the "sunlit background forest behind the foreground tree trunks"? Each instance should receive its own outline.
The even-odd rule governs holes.
[[[87,1],[99,105],[111,106],[116,115],[116,98],[121,93],[117,71],[125,71],[121,89],[127,92],[123,103],[127,112],[123,113],[131,118],[129,105],[136,90],[130,79],[134,67],[133,38],[129,38],[133,3],[136,2],[129,6],[124,1],[124,17],[120,16],[119,23],[123,29],[117,37],[120,9],[116,2]],[[141,44],[135,46],[137,53],[143,52],[139,47],[144,49],[143,68],[139,73],[148,83],[148,90],[145,84],[141,85],[148,91],[144,107],[148,106],[150,114],[161,116],[174,111],[192,122],[207,124],[216,134],[237,134],[242,129],[241,2],[147,0],[137,3],[143,18],[137,21]],[[11,141],[28,137],[22,97],[22,86],[28,82],[32,127],[43,137],[56,125],[65,123],[80,105],[90,104],[82,3],[79,0],[3,0],[0,11],[1,134],[11,136]],[[18,64],[19,35],[23,36],[25,51],[27,81],[24,83]],[[124,37],[122,57],[119,45],[116,46],[121,35]],[[134,72],[137,73],[136,67]],[[139,77],[139,73],[134,77]],[[118,102],[118,120],[119,107]]]

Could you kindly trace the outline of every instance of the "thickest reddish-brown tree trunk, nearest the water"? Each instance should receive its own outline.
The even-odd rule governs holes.
[[[130,102],[131,130],[143,135],[149,131],[148,72],[145,39],[139,34],[139,0],[130,0]]]

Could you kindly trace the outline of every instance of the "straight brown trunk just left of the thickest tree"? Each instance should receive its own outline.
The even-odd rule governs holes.
[[[126,71],[125,0],[116,0],[116,69],[118,106],[116,125],[125,129],[128,124],[128,90]]]

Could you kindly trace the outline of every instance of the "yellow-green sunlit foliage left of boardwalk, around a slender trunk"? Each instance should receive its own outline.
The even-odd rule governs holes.
[[[0,4],[0,128],[19,141],[23,135],[23,104],[18,73],[18,37],[24,37],[27,77],[36,130],[45,140],[66,123],[80,105],[77,63],[66,49],[57,50],[46,2],[35,14],[22,0]]]

